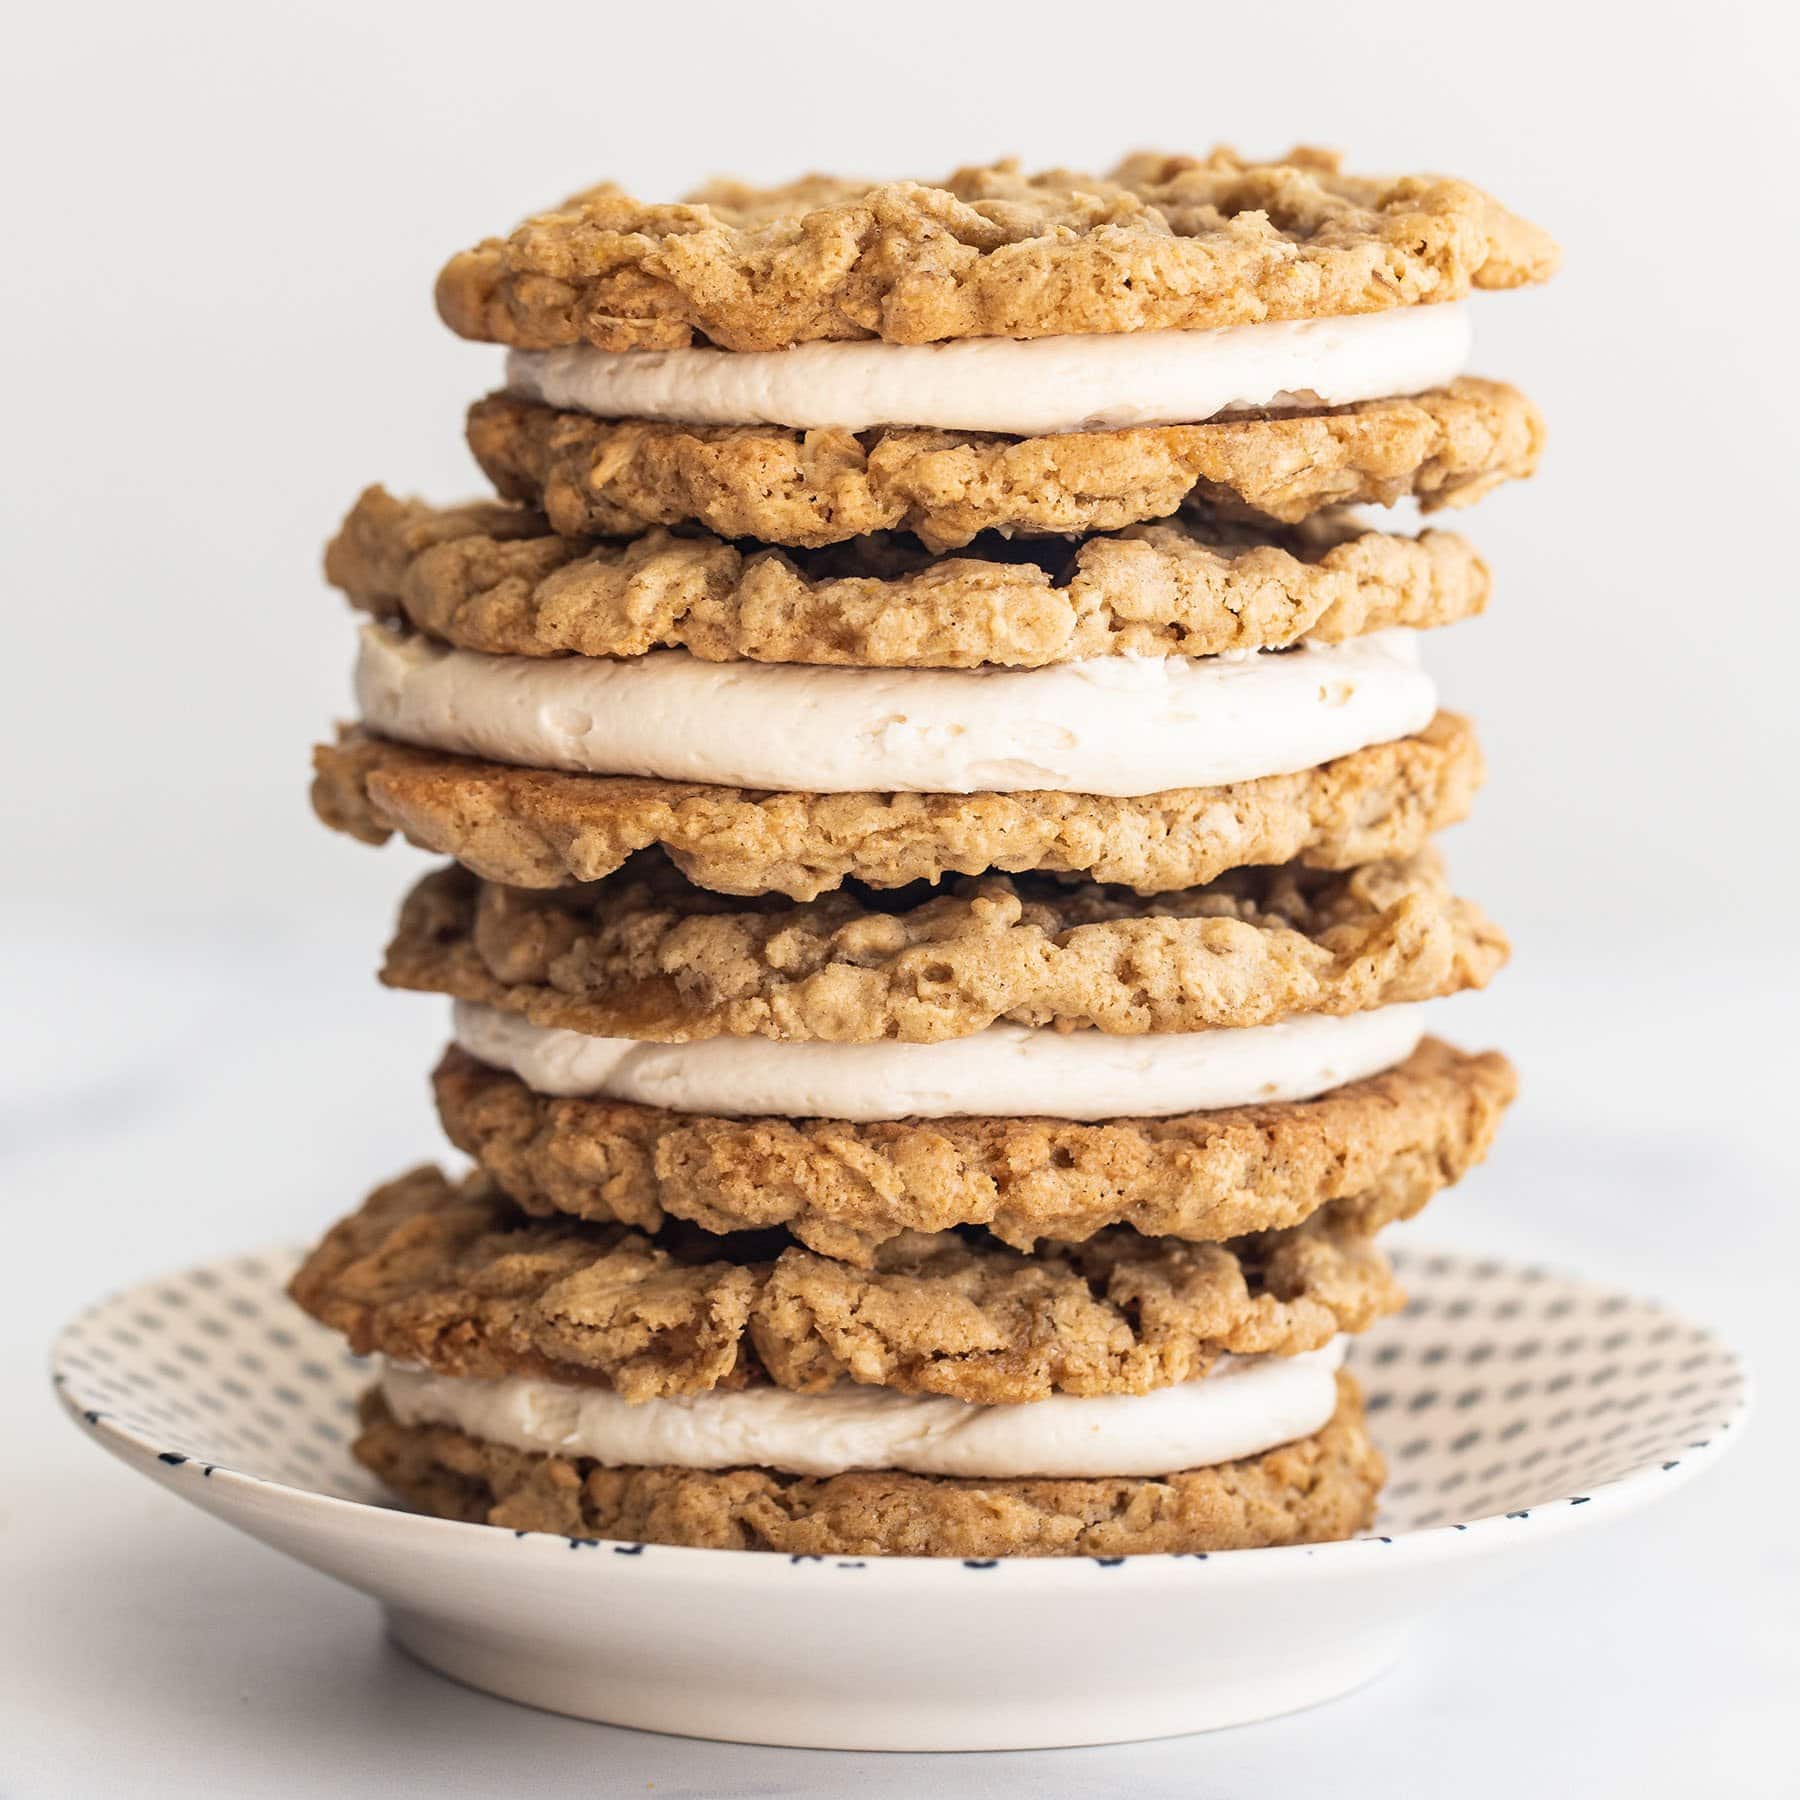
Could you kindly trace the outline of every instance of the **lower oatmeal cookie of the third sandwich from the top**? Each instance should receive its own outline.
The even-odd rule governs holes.
[[[1107,1226],[1220,1240],[1330,1210],[1377,1231],[1487,1154],[1516,1089],[1492,1051],[1426,1039],[1399,1067],[1316,1100],[1174,1118],[709,1118],[533,1093],[448,1049],[432,1078],[450,1141],[526,1211],[785,1228],[871,1267],[902,1231],[983,1226],[1015,1249]]]

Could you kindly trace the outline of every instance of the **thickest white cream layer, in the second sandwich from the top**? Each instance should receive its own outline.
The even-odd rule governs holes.
[[[1418,731],[1417,634],[1037,670],[495,657],[367,625],[364,722],[531,769],[823,794],[1157,794],[1314,769]]]

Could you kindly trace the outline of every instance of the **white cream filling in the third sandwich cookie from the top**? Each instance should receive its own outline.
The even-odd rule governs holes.
[[[1168,1118],[1310,1100],[1404,1062],[1420,1006],[1309,1013],[1220,1031],[1049,1031],[994,1024],[941,1044],[648,1044],[531,1024],[457,1001],[455,1040],[533,1093],[734,1118]]]

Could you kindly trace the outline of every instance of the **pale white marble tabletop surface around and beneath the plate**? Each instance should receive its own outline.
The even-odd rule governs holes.
[[[401,859],[371,859],[382,882]],[[362,886],[358,877],[358,886]],[[1440,1616],[1391,1678],[1240,1732],[1044,1755],[839,1757],[531,1714],[410,1665],[371,1602],[162,1494],[70,1429],[43,1381],[92,1294],[302,1238],[378,1172],[436,1154],[430,1001],[356,979],[373,909],[209,940],[63,913],[9,925],[9,1303],[0,1400],[0,1793],[1381,1795],[1454,1778],[1636,1796],[1791,1791],[1791,968],[1620,950],[1456,1003],[1526,1098],[1494,1161],[1413,1235],[1658,1294],[1753,1357],[1759,1417],[1708,1480],[1552,1548]],[[1786,992],[1782,986],[1786,983]],[[878,1620],[855,1622],[880,1629]],[[949,1624],[949,1622],[947,1622]],[[778,1652],[778,1647],[772,1647]],[[1071,1645],[1078,1656],[1078,1645]]]

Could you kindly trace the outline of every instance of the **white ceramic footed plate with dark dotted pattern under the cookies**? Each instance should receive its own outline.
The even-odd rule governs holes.
[[[108,1451],[374,1595],[473,1687],[758,1744],[1098,1744],[1348,1692],[1460,1586],[1737,1435],[1744,1372],[1708,1332],[1541,1269],[1395,1262],[1413,1303],[1352,1355],[1391,1471],[1375,1534],[1210,1557],[817,1559],[418,1517],[351,1462],[369,1375],[283,1296],[290,1253],[106,1300],[52,1370]]]

